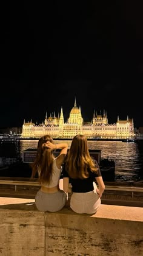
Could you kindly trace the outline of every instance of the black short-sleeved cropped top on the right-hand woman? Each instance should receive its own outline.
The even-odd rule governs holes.
[[[69,177],[70,183],[72,185],[72,191],[76,193],[86,193],[94,190],[93,182],[95,182],[95,177],[101,176],[101,171],[99,168],[98,163],[96,162],[96,166],[98,167],[97,172],[89,172],[89,177],[86,179],[72,179],[70,176],[68,176],[67,171],[65,171],[65,168],[63,166],[62,169],[62,178]]]

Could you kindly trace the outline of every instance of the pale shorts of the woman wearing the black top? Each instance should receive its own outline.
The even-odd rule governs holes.
[[[71,195],[70,208],[76,213],[96,213],[101,205],[101,198],[96,190],[87,193],[75,193]]]

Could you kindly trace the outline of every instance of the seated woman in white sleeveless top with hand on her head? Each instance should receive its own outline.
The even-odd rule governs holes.
[[[56,149],[61,149],[58,157],[53,154]],[[67,143],[54,144],[49,135],[44,135],[38,141],[38,151],[32,163],[32,178],[38,174],[41,188],[36,194],[35,204],[41,212],[57,212],[67,202],[67,194],[59,188],[67,149]]]

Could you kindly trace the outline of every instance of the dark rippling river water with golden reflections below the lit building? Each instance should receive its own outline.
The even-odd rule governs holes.
[[[61,141],[56,141],[59,143]],[[65,142],[65,141],[64,141]],[[68,148],[71,141],[67,140]],[[22,157],[28,148],[37,148],[38,140],[2,141],[0,157]],[[117,182],[136,182],[143,180],[143,141],[88,141],[89,149],[101,149],[102,158],[115,161],[115,180]]]

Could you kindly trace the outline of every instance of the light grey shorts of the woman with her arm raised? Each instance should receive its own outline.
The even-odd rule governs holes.
[[[35,197],[35,204],[41,212],[58,212],[67,201],[67,194],[63,190],[55,193],[44,193],[38,191]]]

